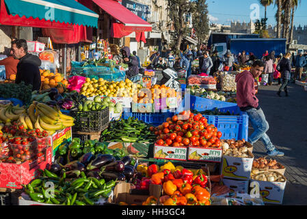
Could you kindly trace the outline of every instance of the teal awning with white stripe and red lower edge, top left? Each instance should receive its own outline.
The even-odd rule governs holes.
[[[3,1],[5,5],[3,4]],[[4,6],[4,7],[3,7]],[[5,10],[6,8],[6,10]],[[2,13],[5,11],[11,20],[2,22]],[[5,13],[4,13],[5,14]],[[70,25],[86,25],[89,27],[97,27],[98,14],[86,8],[75,0],[1,0],[0,23],[3,25],[21,25],[14,22],[16,18],[29,19],[25,20],[31,27],[48,27],[46,21],[53,22],[56,27],[70,27]],[[31,22],[34,25],[31,25]],[[42,23],[40,23],[42,21]],[[41,25],[40,25],[41,24]],[[63,26],[64,25],[64,26]],[[49,27],[51,24],[49,24]],[[56,28],[53,27],[53,28]]]

